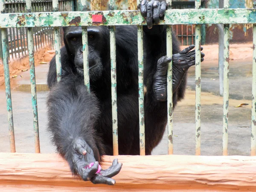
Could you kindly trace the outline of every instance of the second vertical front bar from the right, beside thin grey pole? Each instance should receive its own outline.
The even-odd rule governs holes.
[[[224,0],[224,8],[229,7],[229,0]],[[223,134],[222,152],[227,155],[228,145],[228,107],[229,107],[229,24],[224,24],[224,90],[223,90]]]

